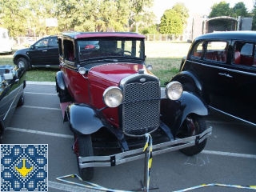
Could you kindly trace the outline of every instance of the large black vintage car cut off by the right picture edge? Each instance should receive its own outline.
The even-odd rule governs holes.
[[[194,39],[172,81],[211,109],[256,125],[256,32],[230,31]]]

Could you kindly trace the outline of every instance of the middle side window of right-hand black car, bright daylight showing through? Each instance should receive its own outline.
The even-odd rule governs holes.
[[[206,51],[204,58],[214,62],[226,62],[227,42],[206,42]]]

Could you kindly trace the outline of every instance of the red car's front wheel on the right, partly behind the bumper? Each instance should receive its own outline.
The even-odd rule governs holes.
[[[205,120],[198,115],[189,115],[186,117],[185,121],[182,124],[181,132],[178,134],[178,138],[187,138],[194,136],[196,134],[201,134],[206,130]],[[194,154],[200,153],[206,146],[206,140],[196,144],[195,146],[190,146],[181,150],[183,154],[192,156]]]

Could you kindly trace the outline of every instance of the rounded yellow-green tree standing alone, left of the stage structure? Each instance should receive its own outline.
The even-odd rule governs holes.
[[[173,34],[176,37],[183,33],[188,18],[188,10],[182,3],[177,3],[172,9],[166,10],[159,25],[161,34]]]

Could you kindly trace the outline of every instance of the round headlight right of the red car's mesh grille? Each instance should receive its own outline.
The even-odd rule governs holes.
[[[171,100],[177,100],[182,96],[183,87],[180,82],[169,82],[166,86],[166,96]]]

